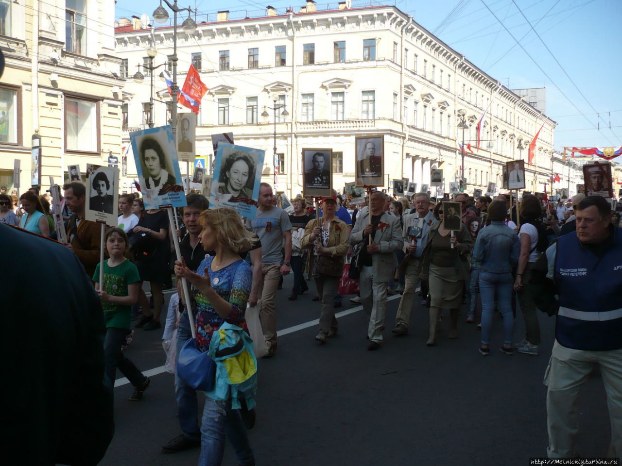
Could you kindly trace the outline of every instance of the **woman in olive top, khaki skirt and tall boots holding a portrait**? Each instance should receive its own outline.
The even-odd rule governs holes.
[[[450,330],[448,337],[458,337],[458,309],[462,304],[465,281],[469,278],[468,253],[473,249],[473,238],[460,223],[460,231],[443,228],[443,203],[434,209],[434,216],[440,220],[430,229],[424,247],[422,280],[427,279],[430,287],[430,337],[426,344],[433,346],[440,313],[443,308],[450,309]],[[453,249],[452,249],[453,244]]]

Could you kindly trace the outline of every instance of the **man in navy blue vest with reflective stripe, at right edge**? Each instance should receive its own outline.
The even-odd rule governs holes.
[[[577,205],[577,234],[560,236],[546,251],[559,311],[547,391],[549,458],[577,457],[577,398],[600,367],[611,421],[608,457],[622,456],[622,229],[611,224],[605,198]],[[580,290],[577,293],[577,290]]]

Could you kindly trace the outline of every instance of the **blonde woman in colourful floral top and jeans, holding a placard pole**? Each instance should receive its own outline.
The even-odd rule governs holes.
[[[230,322],[247,330],[244,313],[251,292],[253,273],[238,252],[251,247],[251,234],[233,209],[211,209],[200,216],[203,231],[199,240],[206,251],[215,256],[201,262],[197,273],[185,262],[175,262],[175,275],[186,278],[192,285],[190,292],[192,314],[197,330],[197,347],[205,352],[213,332],[223,322]],[[178,282],[179,296],[183,296]],[[239,411],[231,409],[231,399],[218,400],[213,392],[206,392],[201,426],[201,455],[199,465],[220,465],[225,449],[225,430],[235,451],[238,463],[254,465],[253,450],[246,435],[246,427]],[[223,411],[226,413],[222,415]]]

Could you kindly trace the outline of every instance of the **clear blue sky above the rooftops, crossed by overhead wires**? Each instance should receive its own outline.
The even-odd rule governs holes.
[[[353,6],[360,2],[353,0]],[[244,10],[258,16],[267,4],[297,10],[305,2],[230,0],[226,8],[231,16]],[[158,5],[158,0],[119,0],[116,17],[151,17]],[[223,9],[213,0],[188,0],[185,6],[196,7],[203,17]],[[326,9],[320,1],[317,6]],[[396,6],[509,88],[545,86],[546,113],[558,124],[555,148],[622,145],[620,0],[401,0]]]

